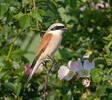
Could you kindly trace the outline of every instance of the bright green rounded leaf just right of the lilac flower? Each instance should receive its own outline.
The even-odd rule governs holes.
[[[91,71],[92,80],[96,83],[98,83],[102,80],[102,75],[103,75],[103,70],[100,68],[94,68]]]

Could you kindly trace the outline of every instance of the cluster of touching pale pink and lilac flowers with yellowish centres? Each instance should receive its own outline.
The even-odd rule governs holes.
[[[78,59],[76,62],[69,61],[68,67],[65,65],[62,65],[58,70],[58,78],[60,80],[71,80],[73,76],[78,73],[79,77],[89,77],[91,69],[94,68],[95,63],[90,63],[88,60],[84,61],[84,64],[82,66],[82,63],[80,59]]]

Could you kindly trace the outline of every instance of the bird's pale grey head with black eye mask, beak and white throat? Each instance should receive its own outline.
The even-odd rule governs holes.
[[[46,31],[46,33],[63,33],[67,28],[64,26],[64,24],[62,23],[54,23],[52,24],[48,30]]]

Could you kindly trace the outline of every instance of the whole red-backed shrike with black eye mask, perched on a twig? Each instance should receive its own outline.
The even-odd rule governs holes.
[[[36,56],[31,65],[33,69],[27,83],[30,81],[32,75],[39,68],[39,66],[41,66],[42,62],[46,58],[50,57],[58,49],[62,40],[62,33],[64,32],[64,30],[66,30],[66,28],[61,23],[52,24],[48,28],[37,49]]]

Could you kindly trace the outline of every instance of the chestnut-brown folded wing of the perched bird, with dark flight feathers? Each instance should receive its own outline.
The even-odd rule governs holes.
[[[36,53],[36,56],[35,56],[35,58],[33,60],[33,63],[31,65],[31,68],[33,68],[35,66],[38,58],[40,57],[40,55],[46,49],[46,47],[47,47],[49,41],[51,40],[51,38],[52,38],[52,34],[50,34],[50,33],[44,34],[44,36],[43,36],[43,38],[42,38],[42,40],[40,42],[40,45],[39,45],[39,47],[37,49],[37,53]]]

